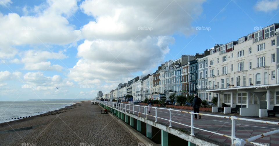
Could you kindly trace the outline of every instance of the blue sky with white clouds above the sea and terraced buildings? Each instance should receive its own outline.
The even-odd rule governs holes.
[[[0,100],[94,98],[279,23],[279,0],[0,0]]]

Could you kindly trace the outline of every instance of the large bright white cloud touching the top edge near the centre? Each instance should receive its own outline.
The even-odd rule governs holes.
[[[148,35],[191,34],[191,22],[202,13],[197,1],[96,1],[85,0],[80,8],[96,21],[83,26],[86,39],[135,39]],[[109,10],[109,11],[108,11]],[[138,27],[152,28],[138,30]]]

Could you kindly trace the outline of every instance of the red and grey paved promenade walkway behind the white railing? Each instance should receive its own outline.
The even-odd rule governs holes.
[[[125,108],[125,106],[124,106],[124,108]],[[129,109],[128,105],[126,108]],[[138,106],[135,105],[134,108],[135,108],[135,115],[138,115]],[[168,108],[165,108],[165,109],[168,109]],[[133,113],[132,104],[130,105],[130,110],[131,110],[130,112]],[[179,109],[176,109],[176,110],[179,110]],[[191,110],[181,110],[181,111],[191,111]],[[128,110],[127,110],[127,112],[128,112]],[[140,107],[140,112],[143,113],[142,107]],[[216,113],[209,113],[209,112],[200,112],[200,113],[226,116],[224,114],[216,114]],[[154,108],[151,108],[150,115],[155,116]],[[140,114],[140,116],[145,117],[145,115],[143,115],[143,114]],[[155,117],[152,117],[152,116],[148,116],[147,118],[149,120],[155,121]],[[169,111],[164,110],[164,109],[158,109],[157,116],[161,117],[161,118],[169,119]],[[246,118],[246,117],[241,117],[241,118]],[[191,125],[191,116],[188,113],[172,111],[171,119],[172,119],[172,121],[175,121],[175,122],[183,123],[185,125]],[[260,120],[258,118],[250,118],[250,119]],[[163,120],[160,118],[158,118],[157,120],[158,120],[158,122],[160,122],[162,124],[169,125],[169,121],[166,121],[166,120]],[[267,120],[267,121],[272,121],[272,120]],[[275,122],[278,122],[278,121],[275,121]],[[191,133],[191,129],[184,125],[179,125],[179,124],[172,122],[172,127],[188,131],[189,134]],[[200,120],[194,119],[194,127],[205,129],[205,130],[212,131],[212,132],[225,134],[228,136],[231,135],[231,120],[230,119],[217,118],[217,117],[212,117],[212,116],[202,116]],[[235,136],[237,138],[241,138],[241,139],[247,139],[252,136],[256,136],[258,134],[262,134],[262,133],[265,133],[268,131],[273,131],[276,129],[279,129],[278,125],[270,125],[270,124],[264,124],[264,123],[258,123],[258,122],[235,120],[235,130],[236,130]],[[206,138],[206,139],[209,138],[211,140],[216,140],[221,143],[226,143],[228,145],[231,144],[230,138],[227,138],[224,136],[219,136],[217,134],[212,134],[210,132],[205,132],[205,131],[195,129],[194,134],[200,138]],[[279,146],[279,134],[273,134],[271,136],[261,138],[254,142],[269,145],[269,146]],[[247,144],[247,145],[253,145],[253,144]]]

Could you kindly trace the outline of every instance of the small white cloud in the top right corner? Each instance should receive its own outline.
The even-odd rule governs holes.
[[[279,6],[279,0],[260,0],[255,5],[255,10],[263,12],[271,12],[277,10]]]

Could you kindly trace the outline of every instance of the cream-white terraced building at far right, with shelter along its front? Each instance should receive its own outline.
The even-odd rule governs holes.
[[[279,24],[272,24],[225,45],[208,55],[208,92],[219,96],[225,113],[242,105],[240,116],[267,116],[279,106]],[[276,31],[275,31],[276,30]],[[277,67],[276,67],[277,66]],[[217,107],[212,107],[217,112]]]

